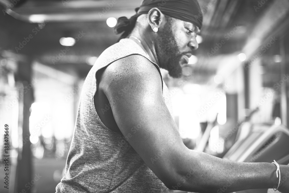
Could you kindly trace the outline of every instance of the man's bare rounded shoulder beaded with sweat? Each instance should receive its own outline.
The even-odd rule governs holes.
[[[162,93],[159,69],[144,56],[131,55],[116,60],[105,68],[99,84],[99,88],[106,94],[111,90],[134,91],[132,87],[148,87]]]

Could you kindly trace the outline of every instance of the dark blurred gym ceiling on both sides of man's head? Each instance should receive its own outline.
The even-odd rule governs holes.
[[[210,76],[216,74],[225,56],[240,53],[266,12],[272,9],[274,3],[283,0],[268,0],[256,10],[258,1],[199,0],[204,13],[201,30],[204,41],[194,53],[199,58],[198,63],[190,66],[196,75],[193,82],[208,81]],[[6,10],[0,14],[0,51],[22,54],[63,71],[74,69],[83,77],[91,68],[86,64],[86,58],[99,56],[118,39],[113,29],[106,24],[106,19],[130,17],[140,2],[141,0],[20,0],[14,5],[11,1],[0,0],[0,9],[2,12]],[[6,9],[7,6],[9,9]],[[41,22],[41,18],[45,20],[44,27],[33,23]],[[274,22],[262,25],[276,25]],[[36,29],[39,30],[37,34]],[[53,64],[56,55],[65,49],[60,45],[59,39],[65,36],[76,37],[79,33],[84,34],[83,37]],[[16,50],[19,42],[24,41],[29,35],[33,38],[27,45]],[[222,49],[209,57],[208,53],[222,40],[225,41]]]

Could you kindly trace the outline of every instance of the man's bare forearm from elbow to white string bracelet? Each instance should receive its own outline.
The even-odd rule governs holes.
[[[179,176],[171,189],[221,193],[278,185],[277,167],[273,163],[227,161],[194,150],[189,150],[188,154],[177,168]],[[286,166],[282,167],[284,170]]]

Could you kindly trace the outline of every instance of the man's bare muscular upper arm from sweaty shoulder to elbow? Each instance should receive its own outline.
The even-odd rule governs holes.
[[[184,146],[162,96],[162,80],[146,58],[110,64],[101,78],[118,128],[165,185],[174,183]]]

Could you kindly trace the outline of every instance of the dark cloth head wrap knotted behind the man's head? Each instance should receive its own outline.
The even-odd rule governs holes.
[[[130,19],[127,17],[118,18],[114,33],[124,32],[120,39],[127,37],[134,29],[138,16],[147,14],[152,8],[158,8],[163,14],[175,19],[193,23],[199,29],[202,27],[203,14],[197,0],[143,0],[142,5],[135,9],[136,14]]]

